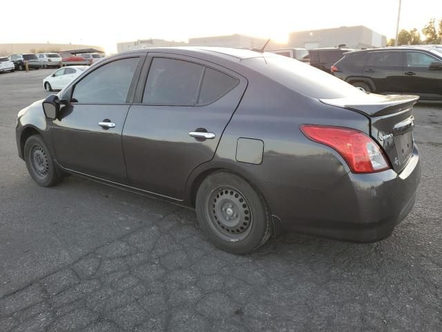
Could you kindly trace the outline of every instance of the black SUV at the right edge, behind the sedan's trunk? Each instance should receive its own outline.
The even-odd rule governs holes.
[[[442,100],[442,50],[388,47],[345,53],[332,73],[367,92],[414,94]]]

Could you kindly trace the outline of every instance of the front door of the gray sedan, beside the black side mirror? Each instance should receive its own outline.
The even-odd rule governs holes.
[[[70,102],[52,122],[55,156],[63,167],[127,182],[122,130],[143,61],[142,53],[108,59],[66,89],[61,98]]]

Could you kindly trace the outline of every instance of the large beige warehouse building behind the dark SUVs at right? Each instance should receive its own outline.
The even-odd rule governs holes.
[[[288,43],[289,47],[307,49],[336,47],[342,44],[348,48],[382,47],[387,44],[387,37],[366,26],[341,26],[290,33]]]

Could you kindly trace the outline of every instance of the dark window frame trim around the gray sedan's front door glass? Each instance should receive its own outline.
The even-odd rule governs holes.
[[[106,64],[110,64],[111,62],[115,62],[115,61],[122,60],[122,59],[133,59],[135,57],[138,57],[139,61],[138,61],[138,64],[137,64],[137,68],[135,68],[135,72],[133,73],[132,81],[131,81],[131,84],[129,86],[129,90],[128,90],[127,97],[126,97],[126,102],[118,103],[117,105],[132,104],[133,103],[134,93],[135,93],[135,87],[137,86],[138,80],[140,80],[140,73],[142,71],[142,66],[143,66],[143,64],[144,64],[144,62],[146,60],[146,53],[131,53],[131,54],[120,56],[120,57],[109,58],[109,59],[104,60],[103,62],[100,62],[100,64],[96,65],[95,68],[93,68],[93,70],[90,71],[90,73],[86,73],[86,75],[80,75],[79,76],[79,80],[75,80],[74,83],[68,88],[68,89],[70,89],[69,96],[68,96],[69,103],[73,103],[73,104],[76,104],[76,105],[81,105],[81,104],[103,105],[104,103],[102,103],[102,102],[88,102],[88,103],[73,102],[72,98],[73,98],[73,94],[74,94],[74,91],[75,91],[75,87],[77,86],[77,84],[79,84],[79,82],[84,80],[85,77],[88,77],[88,75],[90,75],[91,73],[96,71],[98,68],[101,68],[102,66],[106,66]],[[108,105],[108,104],[106,103],[104,105]]]

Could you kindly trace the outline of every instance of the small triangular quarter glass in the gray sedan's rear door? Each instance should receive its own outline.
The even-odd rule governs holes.
[[[210,104],[211,102],[218,100],[237,86],[238,83],[239,81],[234,77],[212,68],[206,68],[202,80],[198,104]]]

